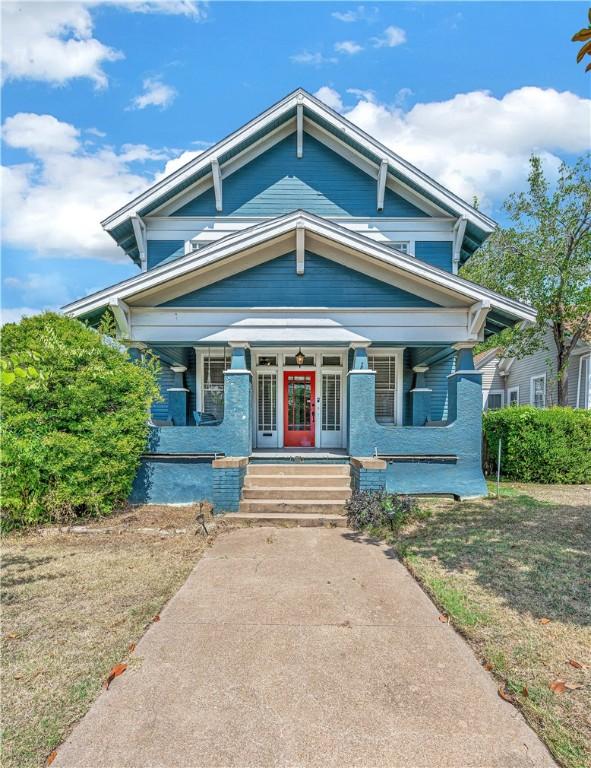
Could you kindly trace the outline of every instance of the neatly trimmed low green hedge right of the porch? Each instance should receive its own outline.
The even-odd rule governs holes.
[[[591,411],[502,408],[487,411],[483,427],[488,464],[494,471],[502,440],[504,478],[534,483],[591,482]]]

